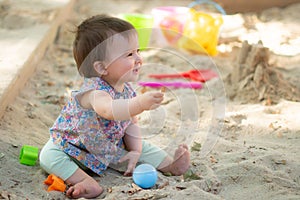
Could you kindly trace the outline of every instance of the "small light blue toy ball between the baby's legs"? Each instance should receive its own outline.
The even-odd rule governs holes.
[[[141,164],[134,169],[132,178],[141,188],[151,188],[157,181],[157,171],[152,165]]]

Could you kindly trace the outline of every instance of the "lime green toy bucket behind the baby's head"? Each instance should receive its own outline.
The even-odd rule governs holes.
[[[153,17],[145,14],[125,13],[121,14],[120,18],[134,26],[138,32],[140,49],[146,49],[151,38]]]

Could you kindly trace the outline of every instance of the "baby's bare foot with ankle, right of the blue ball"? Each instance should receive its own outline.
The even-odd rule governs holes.
[[[190,167],[190,153],[186,144],[181,144],[175,151],[174,158],[167,156],[157,167],[161,172],[170,172],[175,176],[184,174]]]

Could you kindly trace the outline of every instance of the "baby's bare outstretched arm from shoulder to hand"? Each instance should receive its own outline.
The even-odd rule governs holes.
[[[82,95],[80,103],[84,108],[94,109],[105,119],[126,120],[145,110],[157,108],[163,96],[161,92],[147,92],[132,99],[112,99],[104,91],[93,90]]]

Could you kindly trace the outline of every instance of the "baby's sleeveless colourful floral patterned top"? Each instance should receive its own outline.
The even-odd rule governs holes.
[[[117,92],[99,77],[85,78],[80,90],[72,92],[50,128],[54,144],[95,173],[102,174],[110,163],[116,164],[123,155],[122,138],[131,121],[107,120],[93,109],[82,108],[77,97],[89,90],[103,90],[113,99],[129,99],[136,93],[128,83],[123,92]]]

